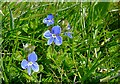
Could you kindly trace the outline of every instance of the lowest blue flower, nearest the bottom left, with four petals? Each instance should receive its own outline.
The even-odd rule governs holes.
[[[23,69],[27,69],[28,74],[31,75],[31,69],[34,72],[38,72],[39,71],[39,65],[37,64],[37,55],[35,54],[35,52],[32,52],[31,54],[28,55],[28,61],[26,59],[23,59],[23,61],[21,62],[21,67]]]

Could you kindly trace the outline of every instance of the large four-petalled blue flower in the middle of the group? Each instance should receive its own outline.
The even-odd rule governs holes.
[[[62,37],[59,36],[61,33],[61,28],[60,26],[54,26],[51,30],[47,30],[43,36],[48,39],[47,44],[50,45],[52,42],[54,42],[56,45],[61,45],[62,44]]]

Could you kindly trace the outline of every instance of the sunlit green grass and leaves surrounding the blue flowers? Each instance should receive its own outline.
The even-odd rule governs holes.
[[[119,2],[1,2],[0,6],[1,83],[120,82]],[[43,33],[52,26],[42,21],[48,14],[62,30],[69,22],[73,38],[62,33],[62,45],[47,45]],[[26,43],[35,46],[38,55],[40,70],[32,76],[20,65],[28,55]]]

